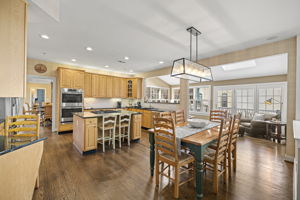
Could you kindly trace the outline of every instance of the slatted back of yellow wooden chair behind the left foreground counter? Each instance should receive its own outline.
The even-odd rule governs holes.
[[[5,134],[7,136],[38,137],[40,130],[39,115],[16,115],[5,120]]]

